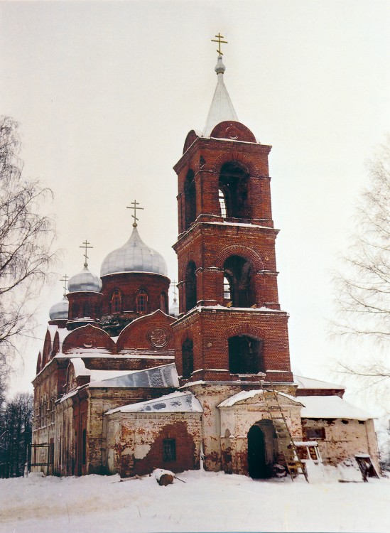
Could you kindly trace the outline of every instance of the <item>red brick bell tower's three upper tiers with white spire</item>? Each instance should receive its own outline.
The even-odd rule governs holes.
[[[220,50],[218,50],[220,53]],[[288,315],[278,303],[268,156],[224,85],[202,134],[190,131],[178,175],[180,308],[173,325],[182,384],[260,381],[291,389]]]

